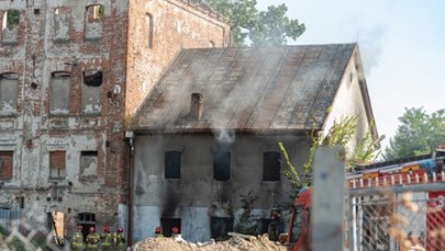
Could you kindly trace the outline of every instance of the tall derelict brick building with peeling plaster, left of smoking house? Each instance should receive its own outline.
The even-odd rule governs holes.
[[[180,49],[229,46],[226,21],[186,0],[0,0],[0,26],[1,209],[126,231],[127,117]]]

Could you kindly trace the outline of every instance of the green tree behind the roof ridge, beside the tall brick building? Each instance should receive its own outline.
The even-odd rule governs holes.
[[[297,39],[305,26],[286,16],[286,4],[270,5],[267,11],[256,9],[256,0],[204,0],[211,9],[229,19],[235,46],[245,46],[246,38],[253,46],[286,45]]]

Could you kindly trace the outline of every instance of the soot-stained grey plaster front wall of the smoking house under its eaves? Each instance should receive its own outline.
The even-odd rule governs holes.
[[[301,170],[307,161],[309,142],[305,136],[236,136],[230,147],[231,179],[213,180],[212,151],[218,142],[211,135],[137,136],[134,166],[133,229],[135,240],[153,235],[160,218],[181,218],[186,239],[210,238],[210,217],[227,217],[224,206],[241,208],[240,195],[258,196],[254,204],[258,218],[268,218],[270,208],[289,201],[289,182],[263,181],[263,153],[279,151],[282,141],[292,162]],[[164,179],[164,153],[180,150],[179,180]],[[282,163],[281,168],[285,167]],[[229,203],[227,203],[229,202]],[[240,213],[240,212],[238,212]]]

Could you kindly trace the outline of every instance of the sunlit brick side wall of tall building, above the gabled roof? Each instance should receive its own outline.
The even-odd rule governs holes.
[[[180,49],[230,45],[227,22],[193,1],[130,2],[127,114],[138,107]]]

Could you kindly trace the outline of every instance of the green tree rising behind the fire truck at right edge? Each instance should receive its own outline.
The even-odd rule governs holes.
[[[445,109],[431,115],[422,107],[405,109],[396,135],[382,155],[385,160],[429,155],[445,144]]]

